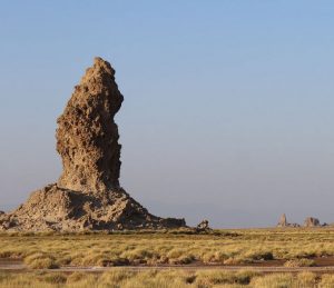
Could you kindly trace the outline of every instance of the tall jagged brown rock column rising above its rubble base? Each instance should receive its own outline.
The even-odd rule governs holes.
[[[122,100],[115,70],[95,58],[57,120],[57,151],[63,167],[60,188],[101,192],[119,187],[121,146],[114,117]]]

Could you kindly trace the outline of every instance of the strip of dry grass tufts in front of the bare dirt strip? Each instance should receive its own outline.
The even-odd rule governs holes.
[[[333,275],[312,272],[262,275],[252,270],[238,272],[203,270],[127,271],[115,268],[104,274],[26,272],[0,274],[0,287],[71,288],[297,288],[334,287]]]

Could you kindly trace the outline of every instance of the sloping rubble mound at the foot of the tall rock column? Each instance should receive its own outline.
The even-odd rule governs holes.
[[[0,215],[0,230],[80,231],[186,227],[184,219],[150,215],[124,189],[72,191],[56,183],[32,192],[24,205]]]

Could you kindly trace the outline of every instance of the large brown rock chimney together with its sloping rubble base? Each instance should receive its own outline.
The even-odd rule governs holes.
[[[124,100],[110,63],[96,58],[58,118],[57,183],[35,191],[24,205],[0,215],[2,230],[177,228],[184,219],[150,215],[119,186],[120,148],[114,117]]]

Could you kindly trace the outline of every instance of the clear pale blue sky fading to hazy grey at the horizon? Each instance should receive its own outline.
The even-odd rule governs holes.
[[[334,2],[0,1],[0,209],[56,181],[95,56],[125,96],[121,185],[215,227],[334,222]]]

